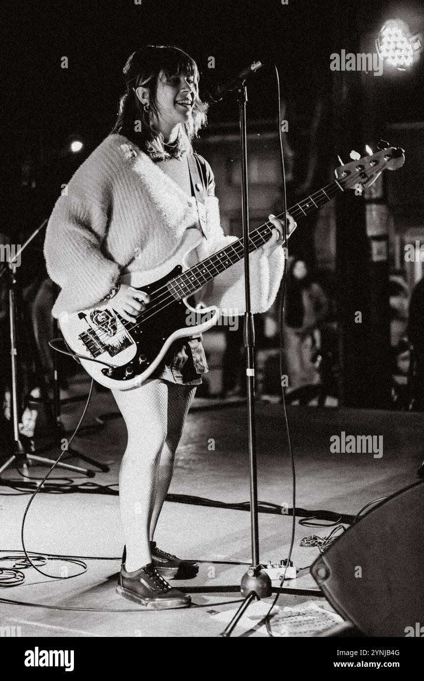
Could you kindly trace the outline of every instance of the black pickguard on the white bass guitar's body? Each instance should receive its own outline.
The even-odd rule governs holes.
[[[178,265],[162,279],[158,279],[158,281],[147,286],[140,286],[137,290],[145,291],[146,294],[152,298],[154,291],[157,291],[157,289],[166,285],[170,279],[174,279],[174,276],[178,276],[181,272],[182,267]],[[120,317],[120,315],[116,315],[120,321],[122,321],[123,326],[125,326],[131,338],[135,341],[137,352],[135,353],[133,360],[128,364],[124,364],[123,366],[114,369],[102,369],[101,372],[105,376],[116,379],[116,381],[129,381],[129,379],[133,379],[140,375],[146,371],[150,364],[157,358],[165,340],[176,330],[186,326],[188,308],[182,300],[172,299],[171,294],[166,291],[166,289],[165,293],[167,298],[166,302],[168,304],[160,305],[160,307],[163,308],[154,314],[152,314],[152,308],[155,304],[152,301],[146,306],[144,313],[142,313],[140,317],[137,317],[134,322],[129,322]],[[172,300],[172,302],[168,302],[168,299]],[[144,317],[146,317],[145,321]]]

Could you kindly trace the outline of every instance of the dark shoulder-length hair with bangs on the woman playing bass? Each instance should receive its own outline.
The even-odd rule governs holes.
[[[206,111],[208,110],[208,105],[199,98],[199,70],[195,61],[189,57],[189,54],[177,47],[147,45],[131,54],[123,72],[127,92],[120,98],[118,118],[111,134],[124,135],[156,161],[180,157],[184,151],[191,152],[191,140],[197,136],[199,129],[206,125]],[[195,81],[192,116],[188,123],[180,124],[178,140],[172,151],[165,149],[162,133],[154,129],[152,125],[152,114],[158,114],[157,80],[161,72],[166,78],[186,74],[193,77]],[[150,90],[147,112],[135,93],[140,85]]]

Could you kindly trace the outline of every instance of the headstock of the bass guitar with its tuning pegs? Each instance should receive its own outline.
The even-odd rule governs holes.
[[[386,143],[387,144],[387,143]],[[343,189],[355,189],[361,185],[363,189],[370,187],[386,168],[397,170],[405,163],[404,149],[387,146],[375,154],[364,156],[358,161],[345,163],[336,168],[334,174]]]

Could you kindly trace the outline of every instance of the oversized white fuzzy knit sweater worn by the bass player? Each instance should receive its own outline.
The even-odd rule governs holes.
[[[71,178],[48,221],[44,255],[50,278],[61,287],[54,317],[98,304],[129,264],[150,270],[165,262],[196,217],[195,200],[137,146],[121,135],[105,138]],[[225,236],[214,196],[206,198],[203,231],[197,262],[236,240]],[[250,268],[252,312],[265,312],[280,285],[282,249],[270,256],[262,249],[251,253]],[[203,287],[201,300],[244,313],[243,262]]]

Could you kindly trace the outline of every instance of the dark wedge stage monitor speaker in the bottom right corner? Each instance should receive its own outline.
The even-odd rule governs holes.
[[[424,637],[424,483],[366,513],[310,571],[333,608],[365,635]]]

